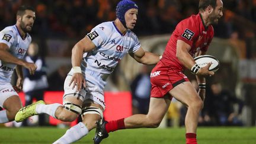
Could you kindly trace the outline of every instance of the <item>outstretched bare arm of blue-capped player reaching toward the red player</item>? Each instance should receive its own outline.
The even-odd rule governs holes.
[[[155,65],[160,60],[159,55],[151,52],[145,52],[142,47],[140,47],[135,53],[130,53],[130,56],[132,56],[137,62],[145,65]]]

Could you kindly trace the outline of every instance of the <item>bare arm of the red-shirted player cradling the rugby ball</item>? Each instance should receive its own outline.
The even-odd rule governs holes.
[[[183,40],[177,40],[177,50],[176,50],[176,57],[180,60],[181,64],[185,66],[187,69],[192,69],[196,66],[196,62],[194,61],[193,57],[188,53],[191,49],[191,46],[185,43]],[[214,75],[214,72],[209,71],[210,63],[207,66],[199,68],[199,70],[195,73],[196,75],[201,76],[209,76]]]

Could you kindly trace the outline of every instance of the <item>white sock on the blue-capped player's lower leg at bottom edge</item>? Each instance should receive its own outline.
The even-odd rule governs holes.
[[[86,136],[88,132],[89,131],[87,127],[84,125],[84,123],[80,122],[75,126],[71,127],[70,129],[68,129],[66,133],[58,140],[56,140],[56,142],[54,142],[53,144],[66,144],[76,142],[76,140],[79,140],[82,137]]]

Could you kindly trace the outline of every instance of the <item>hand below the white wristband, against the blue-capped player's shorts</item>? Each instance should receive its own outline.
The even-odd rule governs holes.
[[[76,86],[76,91],[81,91],[81,89],[86,87],[86,82],[82,73],[73,73],[71,81],[69,82],[69,87],[72,85],[72,89]]]

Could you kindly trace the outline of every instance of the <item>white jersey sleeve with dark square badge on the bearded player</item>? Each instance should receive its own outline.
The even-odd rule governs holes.
[[[15,34],[13,31],[1,31],[0,33],[0,43],[7,44],[8,47],[11,47],[12,43],[14,43]]]

